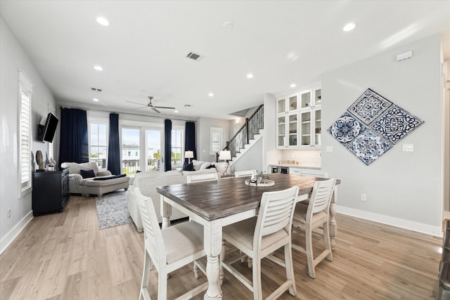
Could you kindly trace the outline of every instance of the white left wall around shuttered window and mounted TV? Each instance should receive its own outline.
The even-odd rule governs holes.
[[[0,17],[0,253],[32,219],[31,193],[18,199],[18,70],[25,72],[34,83],[32,151],[35,154],[41,150],[45,155],[47,143],[37,141],[37,125],[46,117],[48,107],[54,108],[56,103],[30,58]],[[11,209],[10,219],[6,217],[8,209]]]

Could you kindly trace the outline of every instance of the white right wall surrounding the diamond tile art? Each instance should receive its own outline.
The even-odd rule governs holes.
[[[322,169],[342,181],[338,211],[441,234],[440,49],[440,37],[433,36],[323,74],[324,129],[368,88],[425,121],[370,166],[323,134],[322,149],[333,146],[333,152],[322,151]],[[410,50],[413,58],[396,61],[397,54]],[[414,144],[414,152],[401,152],[404,143]],[[361,193],[366,202],[360,201]]]

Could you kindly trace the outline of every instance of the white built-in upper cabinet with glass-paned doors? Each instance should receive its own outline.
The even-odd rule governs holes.
[[[321,89],[307,89],[277,100],[277,148],[321,145]]]

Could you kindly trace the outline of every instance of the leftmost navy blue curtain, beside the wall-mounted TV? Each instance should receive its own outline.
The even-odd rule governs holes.
[[[61,107],[59,160],[89,162],[86,110]]]

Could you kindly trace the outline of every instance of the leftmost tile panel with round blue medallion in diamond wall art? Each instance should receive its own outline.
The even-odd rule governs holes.
[[[340,116],[336,122],[328,128],[328,132],[342,145],[347,145],[356,136],[359,136],[366,127],[361,124],[355,117],[352,117],[348,112]]]

